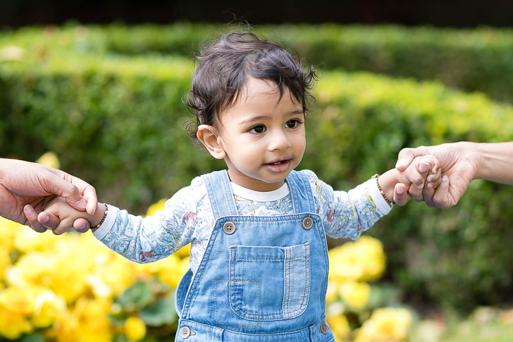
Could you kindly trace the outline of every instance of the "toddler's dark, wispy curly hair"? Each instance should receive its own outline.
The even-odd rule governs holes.
[[[219,124],[220,115],[235,103],[250,77],[275,82],[280,98],[288,88],[303,105],[305,116],[308,104],[314,100],[311,91],[317,75],[313,66],[308,63],[305,67],[299,57],[252,32],[227,33],[201,51],[197,59],[198,67],[185,98],[196,116],[195,122],[186,126],[195,143],[199,143],[198,126]]]

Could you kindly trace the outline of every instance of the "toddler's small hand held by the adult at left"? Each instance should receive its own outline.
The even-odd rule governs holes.
[[[60,220],[60,223],[57,225],[57,227],[52,230],[55,235],[60,235],[68,231],[70,228],[73,228],[73,222],[77,218],[84,218],[88,220],[91,227],[97,225],[103,218],[105,213],[105,206],[98,204],[94,215],[89,215],[85,211],[78,211],[71,207],[66,202],[66,199],[60,196],[55,196],[43,204],[43,210],[46,213],[55,215],[57,219]],[[43,215],[44,212],[40,213],[40,215]]]

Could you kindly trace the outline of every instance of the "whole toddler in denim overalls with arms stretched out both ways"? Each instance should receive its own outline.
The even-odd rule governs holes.
[[[325,235],[356,239],[391,210],[396,184],[425,177],[414,165],[435,170],[438,160],[418,157],[403,172],[334,191],[312,171],[294,171],[305,151],[312,67],[247,32],[224,35],[199,60],[189,128],[228,170],[194,178],[149,217],[104,204],[88,215],[61,197],[44,210],[63,227],[85,217],[105,245],[139,263],[192,243],[175,293],[176,341],[333,341]],[[430,187],[440,173],[427,177]]]

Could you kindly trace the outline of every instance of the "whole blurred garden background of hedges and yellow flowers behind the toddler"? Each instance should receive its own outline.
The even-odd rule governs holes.
[[[300,169],[338,190],[404,147],[513,140],[513,5],[490,1],[4,1],[0,157],[92,184],[152,214],[224,168],[192,146],[183,104],[201,46],[252,30],[322,75]],[[328,239],[337,341],[509,341],[511,187],[470,185],[451,209],[396,207],[355,242]],[[172,341],[188,247],[139,265],[92,236],[0,218],[0,340]]]

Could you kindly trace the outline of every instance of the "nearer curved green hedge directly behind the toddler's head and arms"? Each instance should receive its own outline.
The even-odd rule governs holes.
[[[51,52],[0,64],[1,156],[55,151],[62,169],[93,184],[101,200],[135,213],[224,167],[182,129],[192,69],[183,57]],[[510,106],[440,83],[329,71],[318,98],[300,168],[336,189],[392,168],[403,147],[513,139]],[[478,181],[449,210],[395,208],[369,232],[386,247],[387,278],[408,295],[462,310],[502,303],[513,280],[510,194]]]

